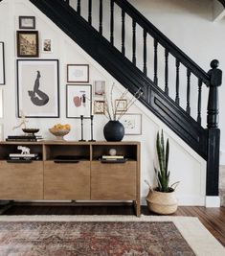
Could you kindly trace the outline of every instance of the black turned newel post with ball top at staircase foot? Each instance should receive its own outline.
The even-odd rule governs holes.
[[[222,71],[218,69],[218,60],[211,61],[212,69],[208,72],[210,76],[210,87],[207,108],[207,131],[208,131],[208,156],[207,156],[207,180],[206,196],[218,196],[219,181],[219,141],[220,130],[218,128],[218,86],[222,83]]]

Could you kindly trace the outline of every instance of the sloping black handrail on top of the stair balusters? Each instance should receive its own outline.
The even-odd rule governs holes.
[[[180,62],[190,69],[197,78],[201,79],[205,84],[210,84],[209,75],[198,66],[191,58],[189,58],[181,49],[179,49],[169,38],[159,31],[146,17],[138,12],[128,1],[126,0],[114,0],[114,2],[122,8],[131,18],[135,19],[149,35],[154,37],[163,47],[165,47],[169,53],[178,58]]]

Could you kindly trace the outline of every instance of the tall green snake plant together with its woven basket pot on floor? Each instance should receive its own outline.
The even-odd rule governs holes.
[[[179,182],[175,182],[169,186],[169,139],[165,149],[164,133],[162,130],[161,137],[159,131],[157,133],[156,149],[159,161],[159,169],[154,167],[157,187],[152,189],[149,183],[149,192],[146,197],[147,207],[150,211],[158,214],[172,214],[177,210],[177,199],[175,198],[175,188]]]

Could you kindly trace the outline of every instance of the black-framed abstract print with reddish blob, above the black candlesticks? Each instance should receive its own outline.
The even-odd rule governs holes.
[[[66,86],[66,117],[90,118],[92,113],[91,84],[67,84]]]

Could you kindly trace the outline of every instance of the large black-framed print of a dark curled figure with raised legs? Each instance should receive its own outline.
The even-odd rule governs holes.
[[[17,59],[17,113],[59,117],[57,59]]]

